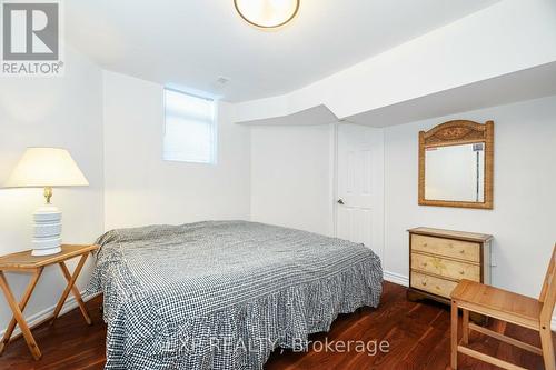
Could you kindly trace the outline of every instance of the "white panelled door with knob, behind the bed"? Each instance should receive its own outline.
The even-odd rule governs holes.
[[[364,243],[383,258],[383,130],[338,124],[336,162],[336,237]]]

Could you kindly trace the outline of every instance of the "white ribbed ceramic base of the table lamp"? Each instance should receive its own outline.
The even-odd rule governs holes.
[[[52,204],[44,204],[34,211],[32,256],[49,256],[61,251],[61,221],[62,212]]]

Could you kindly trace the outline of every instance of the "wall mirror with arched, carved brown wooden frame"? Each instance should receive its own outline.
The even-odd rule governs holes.
[[[494,122],[419,132],[419,204],[493,209]]]

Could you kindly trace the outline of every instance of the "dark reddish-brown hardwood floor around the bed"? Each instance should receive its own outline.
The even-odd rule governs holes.
[[[23,339],[19,338],[0,357],[0,369],[102,369],[105,364],[106,326],[101,320],[101,298],[87,302],[93,326],[88,327],[80,312],[73,310],[56,321],[33,330],[42,359],[33,361]],[[537,334],[513,324],[492,321],[490,328],[539,346]],[[449,312],[434,302],[409,302],[406,289],[385,282],[378,309],[359,309],[340,316],[328,333],[311,336],[324,343],[388,341],[389,351],[369,356],[353,347],[349,352],[294,353],[276,350],[266,369],[446,369],[449,363]],[[528,369],[543,369],[540,357],[473,333],[471,347]],[[355,343],[355,342],[354,342]],[[370,344],[369,344],[370,346]],[[318,349],[318,347],[315,346]],[[373,349],[373,346],[368,347]],[[342,351],[341,348],[339,348]],[[494,369],[460,356],[460,369]]]

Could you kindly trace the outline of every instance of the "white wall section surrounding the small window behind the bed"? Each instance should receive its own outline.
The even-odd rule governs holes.
[[[103,72],[105,227],[249,219],[249,129],[218,110],[218,164],[162,161],[162,86]]]

